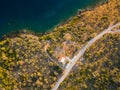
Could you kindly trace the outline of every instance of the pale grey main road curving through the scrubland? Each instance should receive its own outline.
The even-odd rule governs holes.
[[[120,25],[120,22],[110,26],[108,29],[105,29],[104,31],[102,31],[100,34],[98,34],[96,37],[94,37],[93,39],[91,39],[87,45],[85,45],[80,51],[79,53],[76,55],[76,58],[73,62],[70,62],[70,67],[64,70],[64,74],[61,76],[61,78],[56,82],[55,86],[52,88],[52,90],[57,90],[57,88],[60,86],[60,84],[62,83],[62,81],[67,77],[67,75],[69,74],[69,72],[71,71],[71,69],[73,68],[73,66],[76,64],[76,62],[83,56],[83,54],[85,53],[86,49],[88,49],[96,40],[100,39],[103,35],[105,35],[106,33],[110,33],[111,30],[117,26]]]

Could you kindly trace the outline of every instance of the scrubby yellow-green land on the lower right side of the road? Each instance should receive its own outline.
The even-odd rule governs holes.
[[[119,90],[120,33],[107,34],[85,53],[59,90]]]

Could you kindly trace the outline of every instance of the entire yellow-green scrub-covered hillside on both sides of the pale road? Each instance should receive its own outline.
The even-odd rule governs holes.
[[[43,35],[23,30],[4,36],[0,41],[0,89],[50,90],[64,73],[61,57],[73,58],[90,39],[118,22],[120,1],[110,0],[79,12]],[[104,35],[83,59],[59,90],[120,89],[119,32]]]

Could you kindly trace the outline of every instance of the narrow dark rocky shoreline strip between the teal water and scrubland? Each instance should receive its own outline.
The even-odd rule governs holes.
[[[36,32],[34,30],[30,30],[30,29],[19,29],[19,30],[16,30],[16,31],[11,31],[9,33],[6,33],[4,35],[2,35],[2,37],[0,38],[0,41],[5,39],[5,38],[12,38],[12,37],[15,37],[15,36],[18,36],[19,34],[22,34],[22,33],[26,33],[26,34],[33,34],[33,35],[37,35],[37,36],[41,36],[41,35],[46,35],[48,33],[51,33],[53,31],[55,31],[56,28],[68,23],[69,21],[71,21],[74,17],[79,17],[79,15],[81,13],[84,13],[86,11],[92,11],[94,10],[95,7],[99,7],[103,4],[107,4],[109,2],[109,0],[106,0],[106,1],[101,1],[99,3],[97,3],[95,6],[87,6],[86,8],[83,8],[83,9],[78,9],[74,14],[72,14],[70,17],[66,17],[64,18],[63,20],[61,20],[61,22],[59,22],[57,25],[54,25],[51,29],[48,29],[47,31],[45,32]],[[89,8],[88,8],[89,7]]]

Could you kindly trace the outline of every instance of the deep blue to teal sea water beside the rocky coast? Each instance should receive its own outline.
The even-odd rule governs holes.
[[[105,0],[0,0],[0,37],[15,30],[46,32],[78,9]]]

